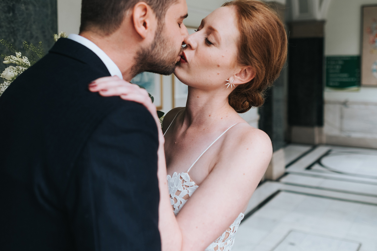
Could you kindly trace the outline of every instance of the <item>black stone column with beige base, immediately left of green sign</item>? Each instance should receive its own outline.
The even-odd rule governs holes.
[[[324,21],[290,24],[288,123],[291,141],[323,143]]]

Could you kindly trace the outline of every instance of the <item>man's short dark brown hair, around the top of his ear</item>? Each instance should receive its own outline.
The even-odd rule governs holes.
[[[92,28],[105,34],[115,32],[126,12],[139,2],[147,3],[161,22],[167,9],[178,0],[82,0],[80,33]]]

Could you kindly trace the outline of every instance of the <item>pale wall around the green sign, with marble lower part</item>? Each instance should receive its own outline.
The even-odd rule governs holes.
[[[325,55],[360,55],[361,6],[377,0],[331,0],[325,17]],[[325,91],[326,142],[377,148],[377,88]]]

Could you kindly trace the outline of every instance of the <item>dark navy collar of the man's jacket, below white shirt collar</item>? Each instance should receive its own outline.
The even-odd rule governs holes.
[[[109,70],[107,70],[102,60],[92,50],[76,41],[68,38],[60,38],[49,52],[73,58],[110,76]]]

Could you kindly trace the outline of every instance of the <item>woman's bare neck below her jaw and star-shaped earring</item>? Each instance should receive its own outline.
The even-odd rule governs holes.
[[[234,113],[228,102],[228,93],[189,87],[183,125],[186,128],[208,126],[225,121]]]

